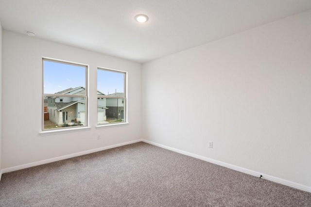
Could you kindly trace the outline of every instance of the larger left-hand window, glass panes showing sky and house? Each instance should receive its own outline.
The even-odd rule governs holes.
[[[42,130],[87,126],[87,65],[43,58]],[[52,110],[54,114],[52,116]]]

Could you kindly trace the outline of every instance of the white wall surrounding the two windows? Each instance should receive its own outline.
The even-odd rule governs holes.
[[[141,138],[141,64],[5,30],[2,47],[2,169]],[[42,57],[89,64],[91,130],[39,135]],[[128,126],[95,128],[98,66],[128,71]]]

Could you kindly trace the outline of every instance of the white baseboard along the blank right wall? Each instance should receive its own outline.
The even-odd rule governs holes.
[[[299,183],[294,183],[294,182],[289,181],[289,180],[281,179],[281,178],[274,177],[274,176],[271,176],[271,175],[262,174],[262,173],[259,173],[259,172],[253,171],[253,170],[249,170],[249,169],[242,168],[242,167],[239,167],[239,166],[236,166],[236,165],[228,164],[228,163],[225,163],[225,162],[222,162],[222,161],[218,161],[218,160],[215,160],[215,159],[206,158],[206,157],[203,157],[203,156],[200,156],[200,155],[196,155],[196,154],[193,154],[193,153],[190,153],[190,152],[186,152],[186,151],[183,151],[183,150],[175,149],[173,147],[165,146],[163,144],[154,143],[154,142],[151,142],[151,141],[148,141],[148,140],[144,140],[143,139],[142,142],[149,143],[149,144],[152,144],[152,145],[164,148],[164,149],[168,149],[168,150],[171,150],[171,151],[183,154],[183,155],[188,155],[188,156],[193,157],[193,158],[202,159],[204,161],[211,162],[211,163],[214,163],[214,164],[226,167],[226,168],[230,168],[232,170],[236,170],[236,171],[239,171],[239,172],[242,172],[242,173],[246,173],[248,175],[253,175],[253,176],[256,176],[256,177],[259,177],[260,175],[262,175],[261,178],[263,178],[263,179],[270,180],[270,181],[273,181],[273,182],[276,182],[276,183],[280,183],[282,185],[286,185],[286,186],[289,186],[289,187],[292,187],[292,188],[295,188],[295,189],[299,189],[299,190],[302,190],[302,191],[311,192],[311,187],[305,186],[305,185],[301,185]]]

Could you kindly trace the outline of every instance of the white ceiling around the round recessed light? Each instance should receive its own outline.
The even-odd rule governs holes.
[[[311,0],[0,0],[0,22],[144,63],[310,9]]]

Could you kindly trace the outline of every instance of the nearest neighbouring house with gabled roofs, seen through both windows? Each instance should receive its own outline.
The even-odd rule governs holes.
[[[49,113],[49,120],[58,126],[64,123],[79,123],[85,125],[86,122],[86,104],[84,97],[58,97],[57,95],[85,95],[85,88],[83,86],[76,88],[69,88],[64,91],[55,93],[54,97],[47,98],[47,112]],[[98,95],[104,93],[98,91]],[[106,100],[102,98],[98,100],[98,122],[106,123]]]

